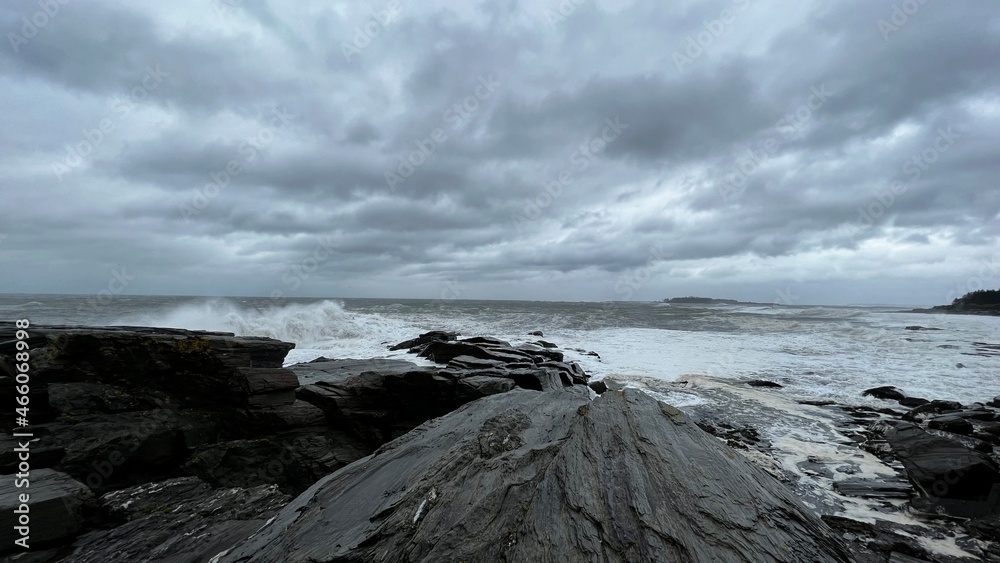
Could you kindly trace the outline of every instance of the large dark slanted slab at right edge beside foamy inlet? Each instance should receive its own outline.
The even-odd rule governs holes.
[[[962,517],[1000,510],[1000,467],[989,456],[908,422],[886,426],[886,441],[931,507]]]

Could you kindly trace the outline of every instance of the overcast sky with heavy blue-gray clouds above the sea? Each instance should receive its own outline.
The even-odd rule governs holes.
[[[1000,4],[4,1],[0,292],[1000,287]]]

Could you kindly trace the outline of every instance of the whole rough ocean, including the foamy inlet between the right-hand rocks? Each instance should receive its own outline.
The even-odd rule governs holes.
[[[294,342],[286,364],[319,356],[404,358],[391,344],[429,330],[544,339],[595,379],[637,387],[694,415],[759,430],[770,455],[743,452],[786,481],[818,513],[924,526],[905,502],[848,498],[845,479],[898,479],[858,448],[836,408],[801,401],[900,409],[862,396],[894,385],[927,399],[982,402],[1000,395],[1000,317],[905,312],[903,307],[674,305],[413,299],[287,299],[0,295],[0,318],[35,324],[140,325],[269,336]],[[911,330],[919,326],[930,330]],[[596,352],[597,356],[587,352]],[[764,379],[780,389],[757,389]],[[933,552],[968,555],[952,540]]]

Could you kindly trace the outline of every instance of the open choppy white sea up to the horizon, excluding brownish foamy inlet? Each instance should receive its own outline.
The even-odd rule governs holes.
[[[768,379],[786,397],[881,404],[864,389],[963,403],[1000,395],[1000,317],[927,315],[889,307],[0,295],[0,318],[35,323],[164,326],[294,342],[288,363],[410,357],[388,344],[434,329],[531,341],[540,330],[588,373],[677,381]],[[909,331],[919,325],[940,330]],[[958,367],[961,364],[964,367]],[[679,401],[683,402],[683,401]],[[683,406],[683,405],[678,405]]]

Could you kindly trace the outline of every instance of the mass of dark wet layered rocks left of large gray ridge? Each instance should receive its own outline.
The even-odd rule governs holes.
[[[0,323],[6,420],[14,331]],[[268,338],[145,327],[34,326],[30,335],[33,529],[51,534],[35,533],[39,550],[19,561],[207,560],[289,495],[430,418],[518,386],[590,392],[587,374],[557,349],[484,337],[461,346],[487,350],[473,353],[488,365],[320,358],[285,368],[294,345]],[[434,331],[404,344],[456,337]],[[0,442],[12,484],[18,444],[9,433]]]

